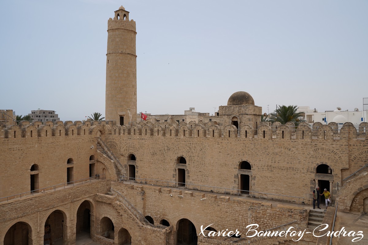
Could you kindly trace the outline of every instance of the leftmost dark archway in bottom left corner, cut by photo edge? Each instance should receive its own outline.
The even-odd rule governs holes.
[[[25,222],[17,222],[13,224],[6,232],[4,237],[4,245],[32,245],[31,226]]]

